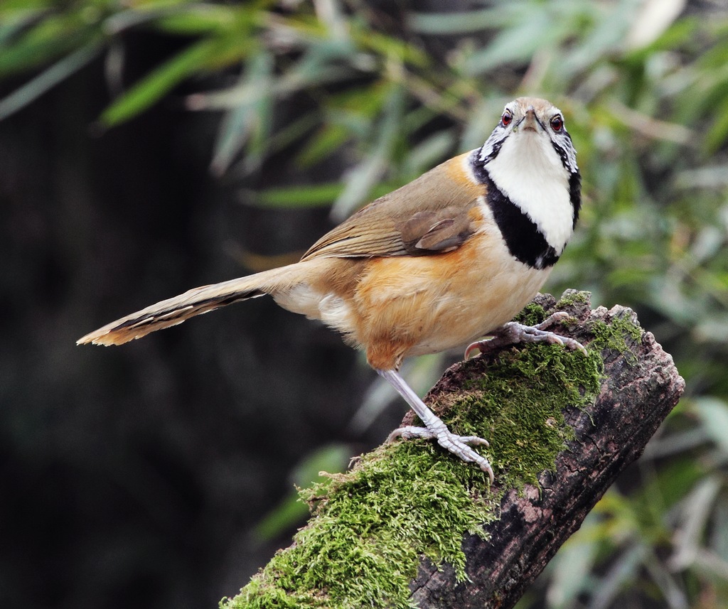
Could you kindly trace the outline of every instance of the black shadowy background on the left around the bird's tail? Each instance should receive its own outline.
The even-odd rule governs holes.
[[[135,36],[130,78],[175,48]],[[5,90],[14,83],[6,83]],[[199,87],[199,83],[197,83]],[[92,63],[0,123],[0,598],[5,607],[213,607],[280,541],[250,527],[344,429],[373,373],[338,335],[260,298],[120,348],[95,327],[250,272],[234,252],[296,259],[326,210],[260,211],[241,188],[295,179],[208,171],[218,117],[182,88],[102,132]],[[260,331],[262,330],[262,331]]]

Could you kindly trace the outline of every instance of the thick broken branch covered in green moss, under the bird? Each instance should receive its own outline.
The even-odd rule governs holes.
[[[684,389],[630,309],[586,292],[539,295],[589,355],[530,344],[461,362],[425,401],[459,434],[486,437],[496,483],[432,442],[396,442],[302,493],[313,516],[224,609],[510,608]],[[410,423],[405,419],[405,423]]]

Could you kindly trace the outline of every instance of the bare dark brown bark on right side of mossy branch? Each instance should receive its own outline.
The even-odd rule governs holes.
[[[553,298],[539,298],[547,310],[553,310]],[[593,341],[587,328],[594,322],[611,325],[627,319],[637,325],[633,311],[622,306],[591,311],[588,302],[575,302],[565,310],[579,324],[573,332],[559,329],[559,333],[585,346]],[[558,455],[555,472],[541,474],[540,489],[529,486],[523,493],[505,494],[502,517],[486,526],[487,541],[464,538],[471,581],[456,584],[451,569],[440,566],[438,570],[422,562],[410,586],[420,608],[513,607],[614,479],[641,455],[678,402],[684,381],[651,333],[643,333],[638,340],[625,338],[629,357],[618,349],[602,349],[604,381],[593,407],[566,411],[576,437]],[[488,357],[483,357],[481,365],[487,373]],[[448,370],[433,387],[432,396],[457,391],[459,372],[458,365]]]

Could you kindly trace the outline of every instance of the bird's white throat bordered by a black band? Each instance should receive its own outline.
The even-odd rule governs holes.
[[[561,255],[574,231],[569,172],[544,132],[511,133],[486,164],[496,186],[518,205]]]

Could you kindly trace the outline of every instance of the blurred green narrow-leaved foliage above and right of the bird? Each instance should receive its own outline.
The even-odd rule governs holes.
[[[553,100],[585,205],[550,289],[636,309],[688,395],[632,472],[638,482],[606,495],[539,586],[552,608],[717,608],[728,602],[728,15],[682,8],[514,0],[400,15],[361,0],[6,0],[0,77],[17,87],[0,117],[96,57],[118,89],[106,128],[222,73],[228,87],[186,97],[190,110],[221,113],[213,170],[254,171],[283,150],[308,168],[339,156],[344,175],[261,192],[258,204],[333,200],[343,218],[478,146],[515,95]],[[183,49],[119,88],[139,30]]]

